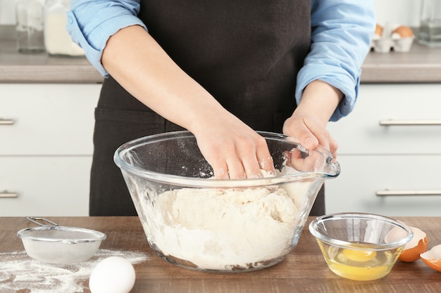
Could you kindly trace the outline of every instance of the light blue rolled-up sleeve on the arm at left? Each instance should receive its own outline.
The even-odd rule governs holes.
[[[131,25],[140,25],[138,1],[71,0],[66,26],[70,37],[85,51],[99,73],[108,77],[101,64],[104,47],[113,34]]]

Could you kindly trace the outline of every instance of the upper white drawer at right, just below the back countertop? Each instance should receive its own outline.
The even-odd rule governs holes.
[[[441,154],[440,93],[441,84],[361,84],[354,111],[328,124],[339,155]],[[390,119],[402,125],[380,125]]]

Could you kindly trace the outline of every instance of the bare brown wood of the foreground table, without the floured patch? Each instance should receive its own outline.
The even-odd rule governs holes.
[[[147,261],[135,265],[137,280],[132,293],[441,292],[441,273],[433,271],[421,260],[414,263],[398,261],[390,274],[380,280],[356,282],[340,278],[326,266],[318,245],[307,228],[300,237],[299,245],[282,263],[251,273],[216,274],[178,268],[156,256],[147,243],[137,217],[50,219],[61,226],[91,228],[106,233],[107,239],[102,242],[100,249],[123,249],[148,254]],[[441,217],[397,219],[425,231],[429,248],[441,244]],[[25,218],[0,218],[0,255],[23,252],[23,244],[16,233],[30,226],[35,224]],[[0,271],[0,280],[1,273]],[[82,284],[84,292],[89,292],[88,280],[82,281]],[[4,292],[1,281],[0,292]],[[23,288],[18,292],[27,293],[29,290]],[[48,288],[47,292],[56,291]]]

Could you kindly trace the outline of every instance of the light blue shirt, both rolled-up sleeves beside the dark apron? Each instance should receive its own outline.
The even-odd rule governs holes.
[[[71,0],[68,32],[86,57],[104,76],[108,72],[101,56],[111,35],[123,27],[141,25],[139,0]],[[299,103],[307,84],[319,79],[340,89],[344,98],[331,121],[354,108],[359,92],[361,65],[370,49],[375,30],[372,0],[312,0],[311,51],[297,76],[295,98]]]

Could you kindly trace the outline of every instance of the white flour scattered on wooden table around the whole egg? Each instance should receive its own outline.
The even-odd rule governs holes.
[[[24,251],[0,253],[0,293],[83,292],[94,266],[109,256],[122,256],[132,264],[149,259],[143,252],[99,249],[89,261],[56,265],[35,261]]]

